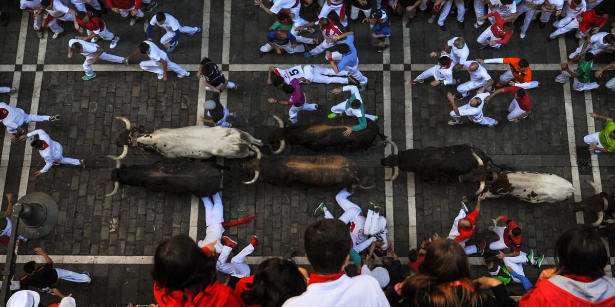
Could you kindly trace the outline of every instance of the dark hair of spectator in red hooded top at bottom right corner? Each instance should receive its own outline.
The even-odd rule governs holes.
[[[575,225],[555,242],[555,265],[563,274],[600,278],[607,264],[606,247],[592,227]]]

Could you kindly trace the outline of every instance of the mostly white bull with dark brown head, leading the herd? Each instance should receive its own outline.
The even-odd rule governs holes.
[[[167,158],[207,159],[213,156],[245,158],[255,153],[250,151],[263,146],[260,139],[236,128],[221,126],[187,126],[163,128],[152,133],[143,133],[137,127],[130,128],[130,120],[116,117],[126,124],[126,129],[116,139],[124,151],[114,160],[126,157],[128,149],[140,147],[154,150]]]

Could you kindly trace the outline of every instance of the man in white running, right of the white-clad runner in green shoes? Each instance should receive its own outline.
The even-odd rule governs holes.
[[[177,74],[178,78],[190,76],[190,72],[182,68],[178,64],[169,60],[167,53],[162,51],[154,42],[143,41],[139,45],[139,49],[135,50],[131,55],[126,56],[124,61],[128,62],[129,58],[138,54],[146,54],[149,56],[149,61],[142,61],[139,66],[144,71],[153,72],[158,75],[158,80],[167,80],[167,70],[171,69]]]

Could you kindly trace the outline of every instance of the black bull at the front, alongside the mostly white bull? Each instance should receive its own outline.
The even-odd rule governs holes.
[[[145,187],[156,192],[210,196],[220,190],[221,169],[229,169],[212,162],[157,161],[150,165],[119,165],[111,175],[117,193],[119,185]]]

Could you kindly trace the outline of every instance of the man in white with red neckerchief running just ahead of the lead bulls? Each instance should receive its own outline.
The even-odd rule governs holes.
[[[40,171],[36,171],[36,173],[34,173],[36,177],[47,173],[47,171],[49,171],[49,169],[54,165],[69,164],[81,165],[85,167],[85,161],[83,159],[77,160],[75,158],[63,157],[62,145],[52,140],[49,137],[49,134],[47,134],[42,129],[37,129],[28,134],[23,134],[19,137],[19,139],[25,141],[26,138],[32,138],[33,136],[38,136],[38,139],[32,141],[30,145],[38,149],[39,153],[41,154],[41,157],[45,160],[45,166]]]

